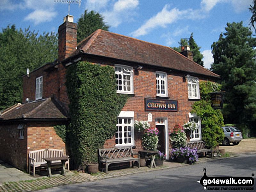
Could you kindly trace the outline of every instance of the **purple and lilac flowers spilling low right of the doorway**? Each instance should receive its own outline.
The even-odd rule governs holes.
[[[179,163],[194,164],[198,161],[198,154],[196,148],[180,147],[171,149],[171,159]]]

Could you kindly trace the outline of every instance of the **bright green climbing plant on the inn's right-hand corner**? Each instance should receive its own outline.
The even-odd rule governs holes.
[[[215,148],[224,139],[224,132],[221,128],[224,123],[222,112],[214,110],[211,106],[210,93],[220,91],[220,86],[212,86],[212,84],[210,81],[200,82],[201,100],[195,102],[191,112],[201,117],[201,133],[205,145]],[[213,90],[212,87],[216,89]]]

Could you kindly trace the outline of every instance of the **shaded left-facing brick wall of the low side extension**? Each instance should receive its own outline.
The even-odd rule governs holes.
[[[26,170],[27,128],[24,128],[24,139],[20,139],[18,125],[18,123],[0,125],[0,159],[21,170]]]

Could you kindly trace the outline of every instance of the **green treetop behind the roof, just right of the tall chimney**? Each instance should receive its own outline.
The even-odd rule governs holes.
[[[79,43],[84,38],[88,37],[94,31],[98,29],[102,30],[109,30],[109,25],[107,25],[103,21],[102,15],[96,13],[95,11],[87,12],[81,15],[78,22],[78,29],[77,29],[77,42]]]

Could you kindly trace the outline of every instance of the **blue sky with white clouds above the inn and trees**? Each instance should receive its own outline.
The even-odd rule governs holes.
[[[71,4],[75,22],[84,10],[101,13],[109,31],[164,46],[178,46],[193,32],[204,55],[205,67],[213,62],[211,45],[226,24],[243,21],[249,27],[249,5],[253,0],[82,0]],[[68,14],[68,4],[55,0],[0,0],[0,27],[39,33],[54,31]]]

